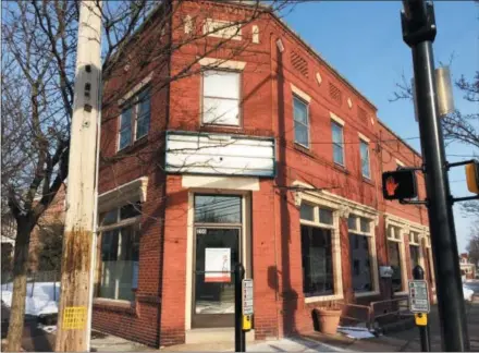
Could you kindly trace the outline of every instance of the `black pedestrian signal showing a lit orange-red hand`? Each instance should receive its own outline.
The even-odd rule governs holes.
[[[414,170],[396,170],[382,173],[382,194],[385,199],[415,198],[417,196]]]

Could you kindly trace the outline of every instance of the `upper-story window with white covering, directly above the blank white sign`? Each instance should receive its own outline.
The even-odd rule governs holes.
[[[202,123],[240,126],[240,72],[202,74]]]

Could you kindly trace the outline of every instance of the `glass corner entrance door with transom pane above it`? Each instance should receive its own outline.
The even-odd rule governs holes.
[[[192,328],[234,326],[241,218],[240,196],[195,195]]]

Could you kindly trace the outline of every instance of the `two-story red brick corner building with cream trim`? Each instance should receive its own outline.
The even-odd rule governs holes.
[[[431,280],[426,209],[385,202],[380,180],[420,156],[376,107],[272,13],[225,28],[255,10],[187,1],[162,32],[164,11],[121,57],[181,50],[119,59],[105,83],[94,328],[153,346],[232,336],[222,259],[254,279],[256,339],[311,330],[317,306],[405,295],[416,263]]]

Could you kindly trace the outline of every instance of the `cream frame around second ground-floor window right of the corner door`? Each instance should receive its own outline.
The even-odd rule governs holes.
[[[369,246],[369,260],[371,266],[371,275],[372,275],[372,291],[368,292],[358,292],[354,293],[356,297],[361,296],[370,296],[370,295],[378,295],[380,294],[380,288],[379,288],[379,268],[378,268],[378,253],[376,248],[376,219],[371,218],[369,215],[365,215],[364,212],[360,212],[358,210],[352,210],[349,212],[349,217],[356,218],[356,230],[349,229],[349,220],[347,220],[347,238],[351,241],[349,232],[357,235],[365,235],[369,238],[368,246]],[[369,222],[369,232],[363,232],[360,229],[360,219],[366,219]],[[351,256],[349,256],[349,263],[351,263]],[[352,265],[352,264],[349,264]],[[353,279],[353,273],[352,273]]]

